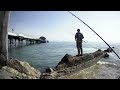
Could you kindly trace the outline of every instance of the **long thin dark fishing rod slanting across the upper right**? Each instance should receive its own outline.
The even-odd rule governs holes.
[[[116,54],[116,56],[120,59],[120,57],[118,56],[118,54],[110,47],[110,45],[98,34],[96,33],[90,26],[88,26],[85,22],[83,22],[79,17],[77,17],[75,14],[71,13],[70,11],[68,11],[70,14],[72,14],[74,17],[76,17],[78,20],[80,20],[82,23],[84,23],[88,28],[90,28],[95,34],[97,34],[107,45],[108,47]]]

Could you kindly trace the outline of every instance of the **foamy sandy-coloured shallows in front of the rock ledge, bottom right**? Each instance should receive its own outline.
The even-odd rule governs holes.
[[[89,68],[79,70],[71,75],[61,76],[58,79],[119,79],[120,66],[116,66],[113,62],[105,62],[101,59],[95,65]]]

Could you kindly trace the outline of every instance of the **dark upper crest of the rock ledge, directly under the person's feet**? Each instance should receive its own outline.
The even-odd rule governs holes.
[[[89,60],[93,60],[94,58],[97,58],[103,54],[104,52],[101,50],[89,54],[84,54],[83,56],[71,56],[66,54],[62,58],[62,60],[58,63],[58,65],[55,67],[55,69],[59,70],[59,69],[65,69],[67,67],[76,66],[84,62],[87,62]]]

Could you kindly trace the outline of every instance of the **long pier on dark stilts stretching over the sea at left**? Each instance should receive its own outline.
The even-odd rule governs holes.
[[[23,45],[33,45],[40,44],[43,40],[41,38],[33,38],[25,36],[23,34],[17,34],[13,32],[8,32],[8,44],[10,46],[23,46]]]

